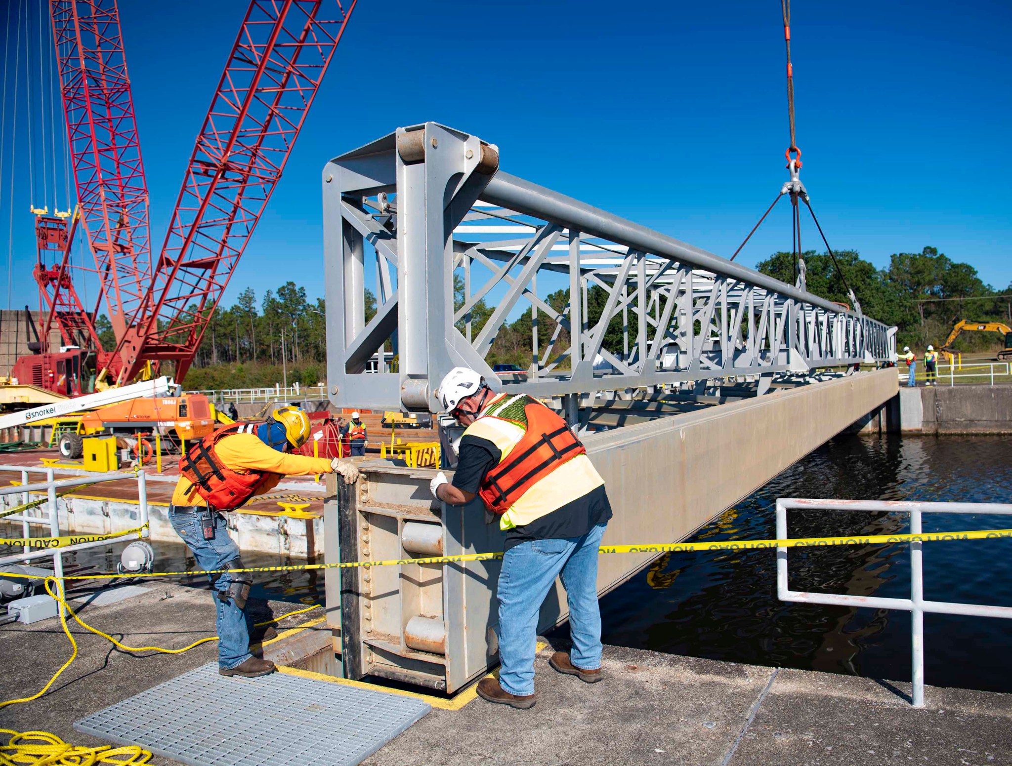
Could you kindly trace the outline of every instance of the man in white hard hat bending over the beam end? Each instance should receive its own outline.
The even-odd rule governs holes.
[[[496,395],[473,369],[454,367],[437,398],[461,426],[452,484],[440,472],[432,494],[450,505],[476,495],[506,533],[499,575],[499,679],[478,694],[489,702],[534,706],[537,614],[557,577],[570,609],[573,650],[549,664],[587,683],[601,680],[597,558],[611,518],[601,479],[566,421],[536,399]]]

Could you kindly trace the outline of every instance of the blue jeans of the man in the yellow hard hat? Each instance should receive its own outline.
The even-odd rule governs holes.
[[[225,569],[225,565],[239,558],[239,546],[229,536],[225,516],[216,514],[215,539],[205,540],[200,529],[199,513],[170,514],[169,521],[176,534],[193,551],[196,566],[201,570]],[[232,582],[232,575],[226,573],[207,575],[212,587],[218,591],[227,591]],[[246,615],[236,606],[232,599],[222,601],[218,593],[214,594],[215,608],[218,610],[218,665],[224,670],[232,670],[250,659],[250,630]]]

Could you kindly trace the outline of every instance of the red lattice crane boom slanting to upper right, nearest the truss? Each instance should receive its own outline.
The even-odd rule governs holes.
[[[181,380],[291,153],[357,0],[252,0],[197,136],[151,281],[116,351],[122,379]]]

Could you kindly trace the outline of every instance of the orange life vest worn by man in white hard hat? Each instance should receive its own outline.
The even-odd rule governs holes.
[[[478,490],[489,510],[500,516],[538,481],[564,462],[587,452],[565,420],[536,399],[524,399],[526,423],[507,418],[524,428],[523,436],[499,464],[485,475]]]

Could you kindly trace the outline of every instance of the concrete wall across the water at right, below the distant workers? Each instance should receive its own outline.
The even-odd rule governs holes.
[[[903,433],[1012,433],[1012,385],[900,389]]]

